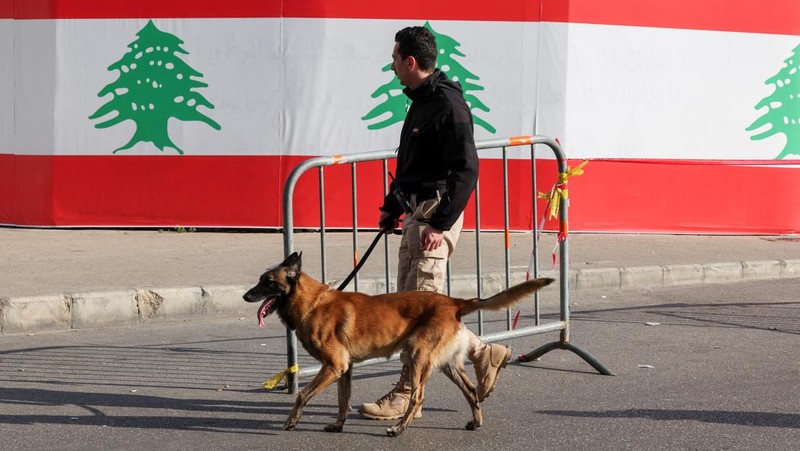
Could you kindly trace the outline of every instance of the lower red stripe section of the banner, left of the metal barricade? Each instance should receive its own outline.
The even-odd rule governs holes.
[[[279,211],[269,197],[280,189],[275,160],[4,155],[0,174],[11,174],[0,178],[0,220],[57,226],[263,225]]]

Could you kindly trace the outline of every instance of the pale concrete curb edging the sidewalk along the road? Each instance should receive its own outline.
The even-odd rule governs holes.
[[[542,277],[555,277],[542,272]],[[510,274],[512,285],[525,273]],[[570,270],[571,291],[642,290],[697,284],[719,284],[750,280],[800,278],[800,260],[708,263],[664,266],[603,267]],[[336,286],[337,281],[331,281]],[[505,274],[483,276],[482,296],[505,287]],[[394,284],[390,289],[394,289]],[[246,286],[137,289],[96,293],[0,298],[0,333],[64,331],[112,325],[147,324],[158,321],[198,319],[225,315],[252,315],[253,306],[242,301]],[[351,284],[349,290],[354,290]],[[362,279],[359,291],[386,292],[383,279]],[[550,287],[549,290],[557,290]],[[450,293],[474,297],[474,276],[453,276]]]

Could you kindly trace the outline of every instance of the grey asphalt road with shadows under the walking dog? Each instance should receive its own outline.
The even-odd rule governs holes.
[[[311,401],[297,430],[283,431],[293,396],[260,387],[285,367],[284,329],[274,318],[264,330],[252,315],[4,335],[0,448],[797,449],[797,284],[578,293],[571,341],[616,376],[560,350],[509,364],[473,432],[463,429],[466,402],[435,374],[423,418],[398,438],[355,411],[343,433],[322,432],[335,416],[334,388]],[[490,320],[489,332],[504,326]],[[511,345],[517,355],[556,338]],[[396,362],[358,369],[352,404],[388,391],[398,372]]]

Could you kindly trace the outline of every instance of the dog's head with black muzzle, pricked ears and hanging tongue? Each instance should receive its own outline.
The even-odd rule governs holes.
[[[292,253],[283,263],[264,272],[258,284],[244,294],[243,298],[247,302],[261,302],[258,308],[259,327],[264,327],[264,318],[277,310],[279,304],[286,301],[297,285],[301,256],[297,252]]]

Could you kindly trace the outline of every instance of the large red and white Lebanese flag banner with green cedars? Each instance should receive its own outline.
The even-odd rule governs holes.
[[[0,223],[281,227],[297,164],[397,146],[409,102],[388,65],[410,25],[436,35],[476,139],[547,135],[590,161],[572,231],[797,232],[789,0],[0,0]],[[509,155],[511,227],[530,229],[529,152]],[[503,227],[500,156],[481,153],[484,229]],[[536,157],[546,192],[553,156]],[[352,227],[349,167],[325,175],[326,224]],[[357,177],[372,227],[381,165]],[[297,226],[319,223],[317,190],[298,185]]]

